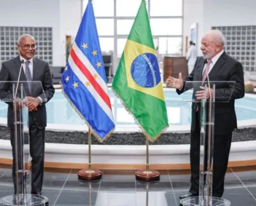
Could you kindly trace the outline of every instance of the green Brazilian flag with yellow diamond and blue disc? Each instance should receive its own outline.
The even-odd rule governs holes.
[[[145,0],[141,1],[112,87],[150,142],[168,128],[163,85]]]

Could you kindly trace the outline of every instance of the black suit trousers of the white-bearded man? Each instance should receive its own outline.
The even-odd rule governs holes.
[[[191,188],[189,192],[199,193],[200,172],[200,112],[196,112],[196,128],[190,136]],[[206,137],[207,139],[207,137]],[[214,135],[212,196],[221,197],[224,192],[225,173],[232,142],[232,133]]]

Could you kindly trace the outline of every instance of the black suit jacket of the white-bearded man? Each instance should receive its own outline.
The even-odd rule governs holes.
[[[202,71],[204,69],[204,57],[198,57],[196,59],[195,67],[191,74],[184,79],[184,86],[186,81],[202,81]],[[216,89],[216,103],[215,103],[215,121],[214,121],[214,133],[215,135],[223,135],[231,133],[237,128],[237,119],[235,112],[235,99],[243,98],[244,96],[244,76],[243,66],[239,61],[233,59],[225,52],[221,54],[218,61],[214,64],[212,70],[209,72],[210,81],[235,81],[234,90],[224,88]],[[207,79],[205,80],[207,81]],[[184,87],[178,94],[184,92]],[[231,96],[228,103],[221,103],[218,100]],[[195,89],[193,93],[193,99],[195,97]],[[195,115],[196,106],[198,103],[192,104],[192,121],[191,130],[195,131]],[[200,105],[199,105],[200,106]]]

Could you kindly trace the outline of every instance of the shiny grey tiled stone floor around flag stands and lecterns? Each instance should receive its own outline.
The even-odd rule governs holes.
[[[100,180],[79,180],[78,170],[45,170],[43,193],[49,205],[179,206],[189,189],[189,171],[159,171],[161,179],[141,182],[135,171],[102,170]],[[256,166],[228,168],[223,198],[232,206],[256,205]],[[0,197],[13,195],[10,167],[0,168]]]

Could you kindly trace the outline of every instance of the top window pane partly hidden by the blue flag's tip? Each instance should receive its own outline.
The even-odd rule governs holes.
[[[83,8],[85,10],[88,0],[83,0]],[[113,17],[114,16],[114,0],[97,0],[92,2],[95,17]]]

